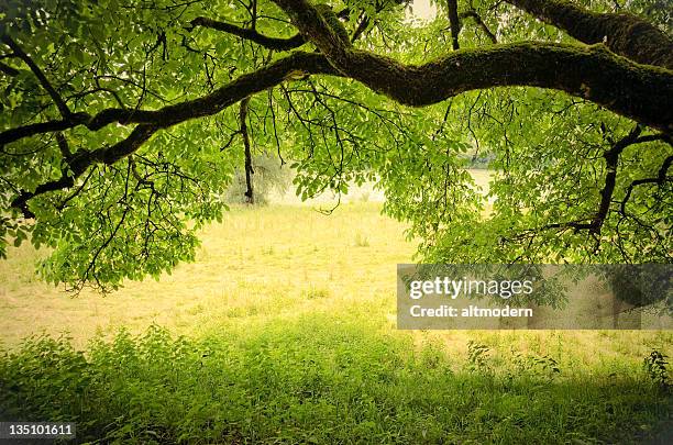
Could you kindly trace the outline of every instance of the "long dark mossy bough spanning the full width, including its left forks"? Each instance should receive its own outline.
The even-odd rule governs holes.
[[[113,122],[139,124],[129,137],[111,147],[77,152],[68,158],[68,167],[74,176],[64,173],[60,179],[41,185],[34,192],[23,191],[12,205],[27,211],[25,203],[30,198],[71,187],[74,179],[88,166],[96,163],[112,164],[128,156],[158,129],[218,113],[255,92],[282,84],[297,71],[346,76],[402,104],[415,107],[435,103],[475,89],[504,86],[550,88],[582,97],[651,125],[661,130],[666,137],[673,130],[673,109],[670,107],[673,103],[673,74],[664,68],[635,64],[606,51],[603,45],[494,45],[483,49],[456,51],[421,66],[402,65],[385,56],[354,49],[351,42],[339,35],[339,30],[328,25],[323,15],[306,0],[275,1],[289,13],[301,33],[309,37],[324,56],[316,53],[295,53],[243,75],[210,94],[158,110],[107,109],[93,116],[82,112],[70,113],[67,110],[60,121],[4,131],[0,133],[0,145],[77,125],[96,131]],[[13,49],[21,57],[21,48],[16,46]],[[31,64],[32,60],[29,65]],[[34,64],[32,67],[36,68]],[[38,68],[35,71],[36,75],[42,73]],[[40,76],[44,78],[44,75]],[[44,86],[51,88],[48,82]],[[59,100],[57,94],[54,97]],[[608,192],[611,194],[609,188],[606,182],[606,188],[602,191],[603,197]],[[602,216],[603,207],[602,203],[592,226],[599,225],[596,221],[605,218]]]

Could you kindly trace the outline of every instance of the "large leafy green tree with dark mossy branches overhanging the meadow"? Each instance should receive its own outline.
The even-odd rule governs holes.
[[[73,289],[158,276],[273,149],[304,198],[377,179],[427,260],[670,262],[665,3],[10,0],[0,253],[48,245]]]

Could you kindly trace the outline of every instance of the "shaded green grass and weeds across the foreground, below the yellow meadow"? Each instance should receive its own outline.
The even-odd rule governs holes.
[[[478,355],[478,354],[477,354]],[[543,363],[543,361],[540,361]],[[25,341],[0,361],[1,420],[71,421],[102,443],[641,443],[670,394],[646,374],[494,369],[366,323],[272,322],[199,340],[152,326],[86,352]]]

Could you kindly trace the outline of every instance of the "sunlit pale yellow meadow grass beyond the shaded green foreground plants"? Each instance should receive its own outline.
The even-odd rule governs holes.
[[[417,345],[441,344],[456,360],[471,340],[504,357],[510,348],[552,354],[571,369],[639,365],[651,348],[673,344],[668,332],[397,332],[396,265],[412,262],[415,251],[404,225],[383,216],[380,205],[355,201],[331,215],[296,204],[234,207],[203,230],[195,263],[108,297],[84,291],[73,298],[47,286],[33,276],[37,254],[26,245],[11,248],[0,263],[1,338],[12,346],[32,333],[66,331],[82,347],[96,332],[120,326],[140,333],[157,323],[202,335],[329,313],[364,314]]]

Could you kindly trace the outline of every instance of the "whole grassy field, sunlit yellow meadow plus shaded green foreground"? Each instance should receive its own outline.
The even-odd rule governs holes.
[[[330,216],[235,207],[196,263],[104,298],[42,283],[38,253],[11,249],[2,418],[73,420],[79,442],[103,443],[662,437],[672,399],[643,358],[673,334],[397,331],[396,264],[413,245],[363,201]]]

